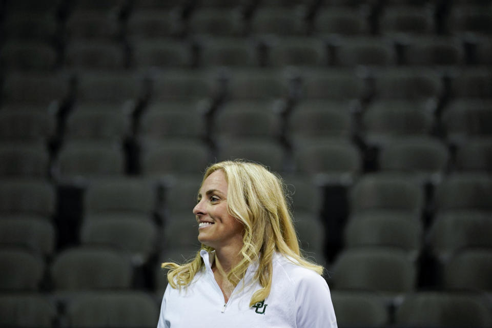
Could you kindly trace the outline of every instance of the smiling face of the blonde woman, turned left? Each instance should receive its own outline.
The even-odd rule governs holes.
[[[193,209],[199,223],[198,241],[215,249],[242,245],[243,226],[227,212],[227,188],[224,172],[213,172],[203,181]]]

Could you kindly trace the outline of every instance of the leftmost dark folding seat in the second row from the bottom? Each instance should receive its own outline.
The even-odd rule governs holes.
[[[0,248],[0,289],[37,291],[45,274],[42,257],[22,248]]]

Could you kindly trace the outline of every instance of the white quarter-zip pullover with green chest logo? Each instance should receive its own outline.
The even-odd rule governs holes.
[[[188,289],[167,286],[157,328],[333,328],[335,311],[326,281],[316,272],[292,263],[280,253],[273,257],[272,289],[264,302],[250,307],[260,289],[251,283],[252,264],[227,303],[215,281],[215,252],[200,252],[205,263]]]

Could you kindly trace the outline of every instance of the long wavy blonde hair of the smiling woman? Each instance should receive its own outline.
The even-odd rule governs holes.
[[[251,263],[258,261],[259,264],[253,281],[258,281],[262,288],[253,294],[250,306],[261,302],[270,294],[275,252],[285,255],[301,267],[320,275],[323,273],[323,267],[304,259],[300,254],[280,176],[257,163],[243,160],[222,161],[207,169],[202,184],[217,170],[224,172],[228,183],[227,211],[244,226],[243,246],[240,251],[242,259],[232,268],[227,278],[233,285],[237,285]],[[213,248],[203,244],[201,249],[213,251]],[[181,290],[202,269],[203,261],[200,252],[197,252],[195,258],[186,264],[166,262],[161,266],[170,269],[168,281],[172,288]]]

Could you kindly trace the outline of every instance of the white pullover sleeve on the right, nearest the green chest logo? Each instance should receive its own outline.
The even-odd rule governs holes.
[[[333,309],[328,284],[313,272],[303,276],[296,288],[298,328],[336,328],[337,319]]]

